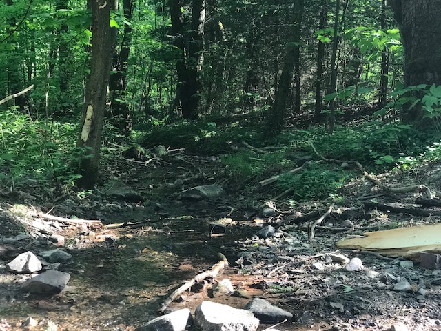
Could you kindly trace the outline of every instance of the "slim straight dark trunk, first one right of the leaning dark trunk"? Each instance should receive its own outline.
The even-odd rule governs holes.
[[[322,0],[321,10],[320,10],[320,22],[318,23],[318,29],[322,30],[327,26],[327,1]],[[318,41],[317,49],[317,78],[316,78],[316,109],[314,112],[314,117],[316,121],[320,121],[322,117],[322,86],[323,86],[323,59],[325,59],[325,43]]]

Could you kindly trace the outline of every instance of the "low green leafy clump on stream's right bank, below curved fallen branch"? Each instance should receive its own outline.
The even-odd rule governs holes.
[[[280,190],[292,189],[296,201],[327,199],[351,178],[352,174],[332,165],[311,165],[301,172],[285,173],[276,182]]]

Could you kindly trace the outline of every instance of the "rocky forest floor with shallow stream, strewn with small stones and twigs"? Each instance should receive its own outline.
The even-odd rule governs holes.
[[[183,150],[147,165],[121,157],[101,174],[105,185],[119,179],[143,202],[106,195],[105,185],[85,196],[46,190],[32,181],[15,192],[1,192],[0,330],[27,330],[22,323],[28,317],[38,322],[33,330],[55,330],[54,325],[58,330],[136,330],[157,317],[174,289],[211,268],[218,252],[229,266],[214,282],[231,280],[241,297],[211,297],[209,284],[200,292],[185,292],[170,310],[194,312],[204,300],[244,308],[250,297],[262,297],[294,315],[278,330],[441,330],[440,270],[420,268],[417,260],[411,266],[400,257],[336,248],[340,239],[364,232],[437,223],[437,217],[382,212],[363,204],[373,199],[416,208],[418,192],[384,192],[360,174],[338,190],[340,201],[290,205],[283,198],[274,200],[277,192],[260,187],[257,179],[231,177],[217,157]],[[387,185],[440,191],[440,177],[440,165],[431,164],[377,178]],[[227,192],[221,199],[179,196],[183,189],[213,183]],[[270,200],[275,210],[265,210]],[[309,241],[307,222],[319,219],[331,202],[331,214]],[[65,221],[48,219],[46,213]],[[225,233],[210,233],[209,223],[223,218],[231,219]],[[353,226],[345,228],[342,222],[348,219]],[[105,227],[111,223],[121,226]],[[265,225],[279,230],[278,236],[256,237]],[[16,240],[17,234],[29,237]],[[50,234],[63,235],[64,248],[72,254],[72,263],[59,268],[71,275],[68,287],[50,297],[23,293],[19,284],[28,275],[8,272],[6,263],[21,252],[53,249]],[[359,257],[364,268],[347,272],[329,259],[331,254]],[[405,277],[411,288],[393,290],[396,277]],[[258,330],[269,326],[261,324]]]

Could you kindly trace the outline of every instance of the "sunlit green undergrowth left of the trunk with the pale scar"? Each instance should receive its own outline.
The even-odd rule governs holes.
[[[30,121],[16,111],[0,112],[0,180],[20,185],[27,178],[51,185],[73,185],[79,174],[75,146],[78,126],[70,123]]]

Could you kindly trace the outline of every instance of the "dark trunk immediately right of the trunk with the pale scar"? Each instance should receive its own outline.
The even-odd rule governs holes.
[[[132,20],[132,0],[123,0],[124,17],[127,21]],[[116,36],[115,36],[116,37]],[[110,114],[115,117],[114,123],[127,134],[132,128],[130,119],[129,104],[125,101],[125,90],[127,88],[127,60],[130,54],[130,41],[132,37],[132,26],[124,24],[123,40],[119,49],[114,47],[112,60],[112,74],[110,74]],[[116,38],[115,38],[116,40]]]

